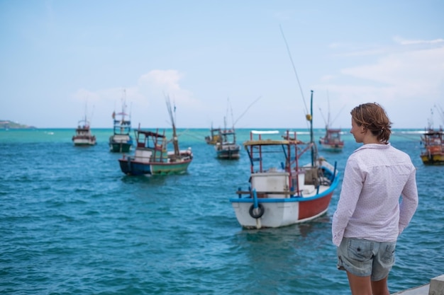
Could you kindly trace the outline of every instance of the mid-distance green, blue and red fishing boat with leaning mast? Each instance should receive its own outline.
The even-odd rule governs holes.
[[[172,120],[172,139],[169,141],[165,136],[165,129],[162,133],[156,129],[155,132],[135,130],[135,154],[118,159],[121,170],[126,175],[170,175],[183,174],[192,163],[192,149],[179,149],[179,141],[176,132],[176,125],[173,120],[170,100],[167,100],[170,119]],[[172,142],[174,149],[168,151],[168,144]]]

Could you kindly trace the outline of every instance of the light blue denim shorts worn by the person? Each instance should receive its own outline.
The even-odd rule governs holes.
[[[338,270],[347,270],[357,277],[371,276],[372,281],[379,281],[392,270],[395,248],[396,241],[343,238],[338,247]]]

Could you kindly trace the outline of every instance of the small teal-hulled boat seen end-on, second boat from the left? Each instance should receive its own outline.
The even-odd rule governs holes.
[[[124,91],[125,93],[125,91]],[[109,137],[109,149],[114,153],[128,153],[133,146],[131,117],[126,113],[126,97],[122,98],[121,112],[113,112],[113,135]]]

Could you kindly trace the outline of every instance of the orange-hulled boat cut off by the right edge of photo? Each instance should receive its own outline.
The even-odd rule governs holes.
[[[440,129],[427,129],[421,136],[421,160],[426,165],[444,165],[444,132]]]

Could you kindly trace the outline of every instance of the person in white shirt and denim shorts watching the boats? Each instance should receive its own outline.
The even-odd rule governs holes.
[[[389,143],[392,122],[381,105],[358,105],[350,114],[350,133],[363,145],[347,160],[333,214],[338,269],[353,295],[389,295],[396,240],[418,207],[416,168]]]

